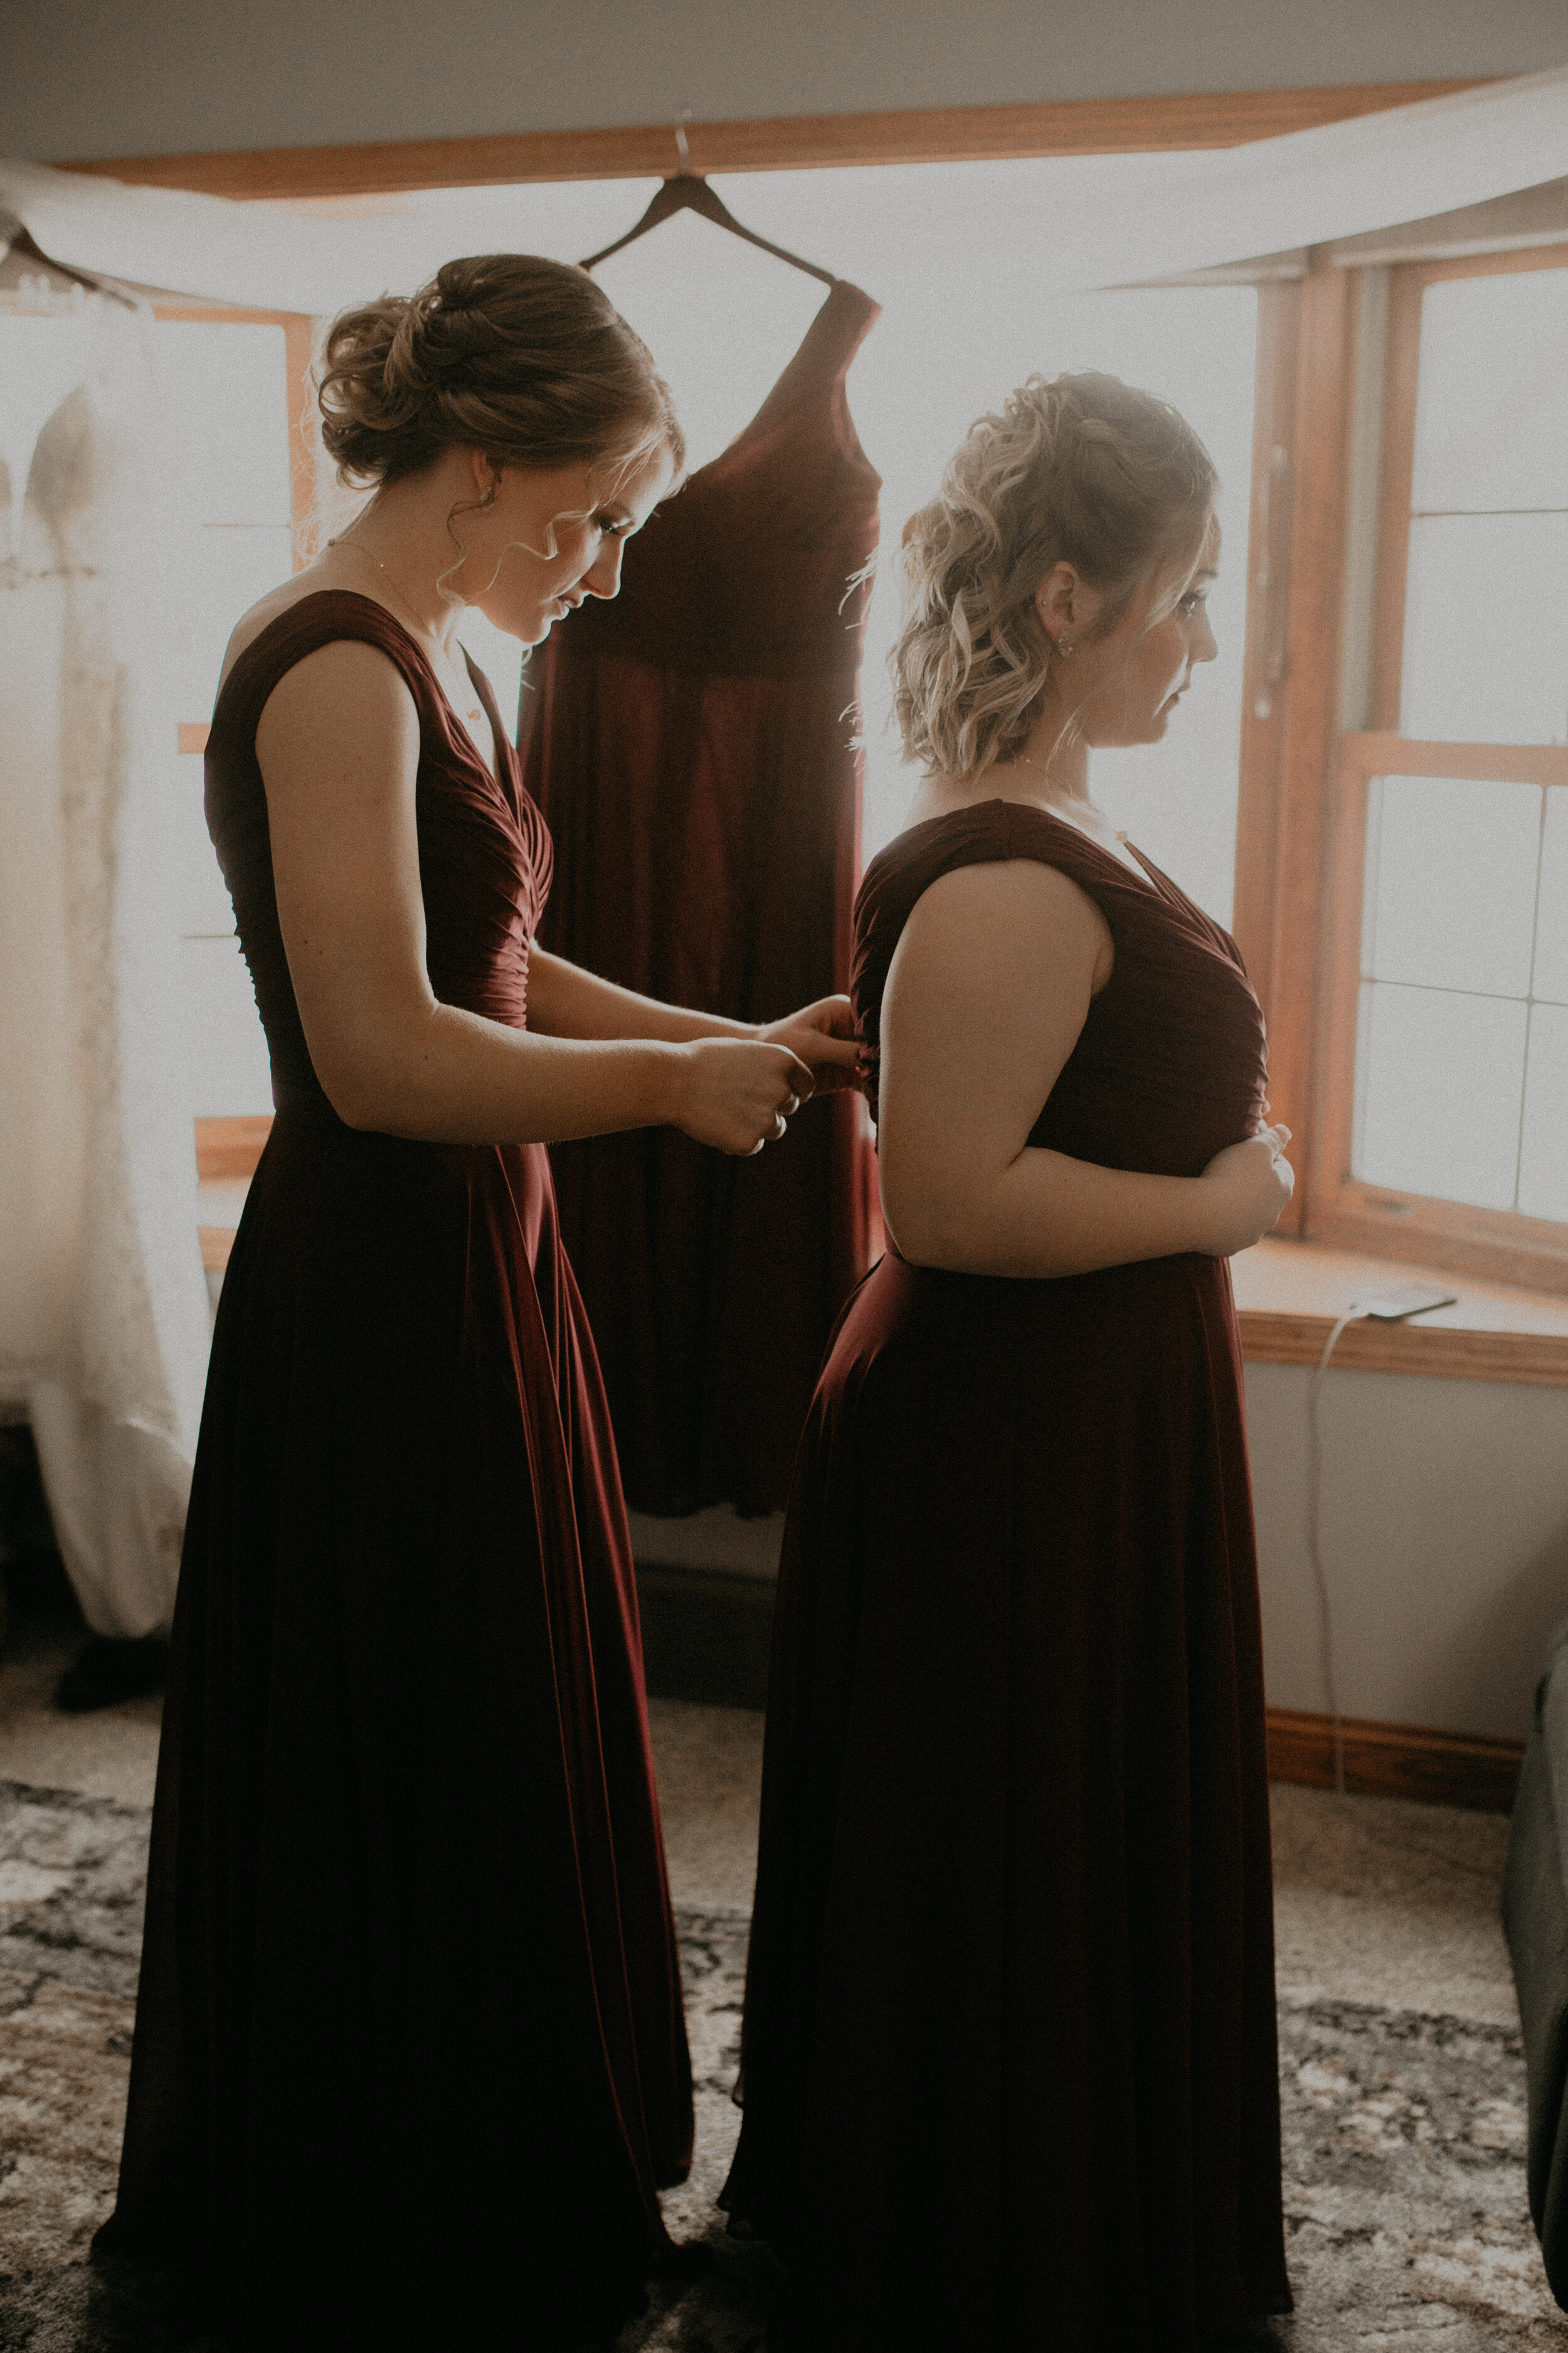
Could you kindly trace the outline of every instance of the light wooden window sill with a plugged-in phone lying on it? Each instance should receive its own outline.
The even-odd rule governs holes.
[[[228,1266],[247,1188],[249,1176],[197,1186],[202,1266]],[[1568,1299],[1448,1278],[1403,1259],[1371,1259],[1321,1242],[1258,1242],[1232,1259],[1229,1271],[1248,1365],[1316,1365],[1352,1299],[1425,1275],[1455,1289],[1458,1301],[1410,1322],[1347,1325],[1333,1353],[1338,1369],[1568,1388]]]

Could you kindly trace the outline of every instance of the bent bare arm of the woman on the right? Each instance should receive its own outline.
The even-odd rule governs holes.
[[[1279,1219],[1279,1136],[1201,1176],[1140,1176],[1030,1146],[1077,1045],[1110,929],[1032,859],[943,875],[910,915],[882,1000],[882,1205],[900,1254],[976,1275],[1077,1275],[1199,1249],[1229,1257]]]

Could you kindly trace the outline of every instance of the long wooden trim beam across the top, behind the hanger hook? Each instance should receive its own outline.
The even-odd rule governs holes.
[[[1342,82],[1319,89],[1215,89],[1157,99],[1067,99],[1046,106],[940,106],[875,115],[780,115],[689,122],[693,172],[802,172],[825,165],[997,162],[1018,155],[1138,155],[1225,148],[1354,115],[1443,99],[1462,82]],[[256,148],[216,155],[113,155],[61,162],[200,195],[339,198],[407,188],[494,188],[562,179],[663,179],[677,169],[668,122],[484,139],[388,139],[360,146]]]

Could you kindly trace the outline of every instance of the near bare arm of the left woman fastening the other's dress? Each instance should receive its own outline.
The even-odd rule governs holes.
[[[296,664],[261,713],[256,758],[310,1061],[350,1127],[529,1144],[668,1122],[750,1153],[811,1094],[797,1056],[759,1038],[536,1038],[437,1002],[418,715],[376,647],[341,640]]]

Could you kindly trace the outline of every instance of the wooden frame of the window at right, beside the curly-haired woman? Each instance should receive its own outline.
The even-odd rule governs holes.
[[[1568,1224],[1392,1193],[1354,1179],[1349,1151],[1371,779],[1568,784],[1561,746],[1413,744],[1399,734],[1420,304],[1443,278],[1563,266],[1568,245],[1410,261],[1389,273],[1366,732],[1342,732],[1338,713],[1361,273],[1324,264],[1300,287],[1265,289],[1274,320],[1260,339],[1258,435],[1260,452],[1274,435],[1293,471],[1295,544],[1279,621],[1288,675],[1260,720],[1276,652],[1267,595],[1258,591],[1258,569],[1267,567],[1260,454],[1234,925],[1269,1021],[1274,1115],[1298,1141],[1298,1188],[1281,1231],[1559,1294],[1568,1294]]]

